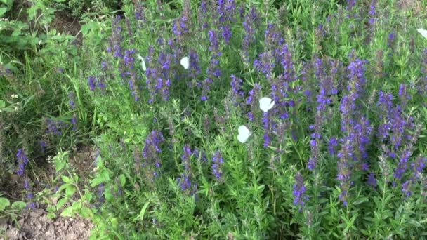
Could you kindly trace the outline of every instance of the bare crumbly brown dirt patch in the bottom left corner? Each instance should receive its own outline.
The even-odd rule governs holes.
[[[15,225],[13,222],[1,222],[0,240],[46,239],[74,240],[88,239],[93,224],[82,218],[47,218],[43,209],[33,208],[24,213],[23,218]]]

